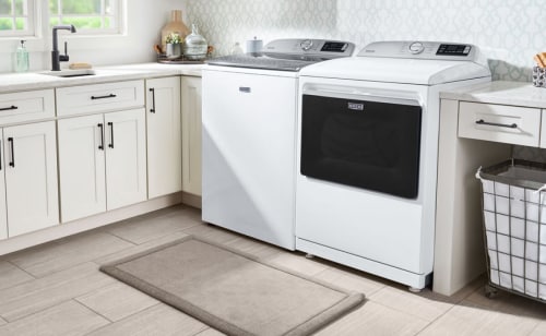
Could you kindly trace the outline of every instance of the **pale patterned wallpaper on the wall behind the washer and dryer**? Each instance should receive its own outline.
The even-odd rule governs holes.
[[[545,0],[180,0],[217,55],[253,36],[464,41],[479,46],[494,80],[530,81],[546,51]]]

